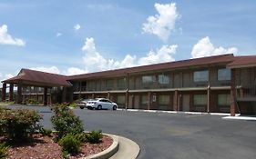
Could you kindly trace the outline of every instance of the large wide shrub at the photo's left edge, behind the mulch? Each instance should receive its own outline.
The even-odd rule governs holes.
[[[26,139],[39,129],[41,116],[31,110],[2,110],[0,113],[0,133],[8,139]]]

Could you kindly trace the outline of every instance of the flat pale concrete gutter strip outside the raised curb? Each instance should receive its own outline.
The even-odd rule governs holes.
[[[118,136],[119,148],[117,154],[114,154],[110,159],[135,159],[139,154],[139,146],[135,142]]]

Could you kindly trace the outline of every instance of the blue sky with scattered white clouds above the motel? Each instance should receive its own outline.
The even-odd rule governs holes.
[[[0,0],[0,80],[256,55],[252,0]]]

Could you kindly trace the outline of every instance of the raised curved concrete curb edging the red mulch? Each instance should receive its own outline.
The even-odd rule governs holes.
[[[113,134],[106,134],[113,139],[113,144],[111,144],[107,150],[104,150],[103,152],[100,152],[98,154],[89,155],[87,157],[82,157],[80,159],[108,159],[112,155],[116,154],[118,152],[119,142],[118,142],[118,136]]]

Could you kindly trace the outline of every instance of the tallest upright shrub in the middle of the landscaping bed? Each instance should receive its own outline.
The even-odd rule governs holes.
[[[72,110],[69,110],[67,104],[53,106],[54,115],[51,121],[57,131],[57,140],[65,134],[81,134],[83,129],[82,121]]]

